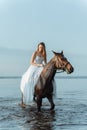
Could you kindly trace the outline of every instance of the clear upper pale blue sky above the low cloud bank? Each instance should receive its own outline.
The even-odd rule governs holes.
[[[0,46],[87,53],[87,0],[0,0]]]

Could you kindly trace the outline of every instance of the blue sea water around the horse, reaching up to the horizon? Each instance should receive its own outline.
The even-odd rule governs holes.
[[[20,78],[0,79],[1,130],[87,130],[87,79],[56,78],[55,111],[43,100],[42,112],[36,106],[20,107]]]

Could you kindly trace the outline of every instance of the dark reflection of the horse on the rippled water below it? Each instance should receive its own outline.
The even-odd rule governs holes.
[[[42,109],[40,113],[35,108],[28,110],[26,122],[22,126],[22,130],[53,130],[55,121],[55,111]]]

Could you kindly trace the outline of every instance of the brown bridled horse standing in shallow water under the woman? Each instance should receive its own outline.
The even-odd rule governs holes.
[[[74,71],[74,68],[64,57],[63,51],[61,53],[54,52],[54,57],[45,65],[40,77],[35,85],[35,97],[37,103],[37,110],[41,111],[42,98],[47,98],[51,104],[50,110],[53,110],[55,104],[53,102],[53,80],[57,70],[66,71],[68,74]],[[34,97],[34,100],[35,100]]]

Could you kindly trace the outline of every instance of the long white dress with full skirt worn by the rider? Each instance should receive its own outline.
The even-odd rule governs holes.
[[[37,64],[44,64],[44,58],[36,56]],[[23,94],[23,103],[29,105],[33,101],[34,86],[41,74],[43,67],[30,65],[27,71],[22,75],[20,89]]]

